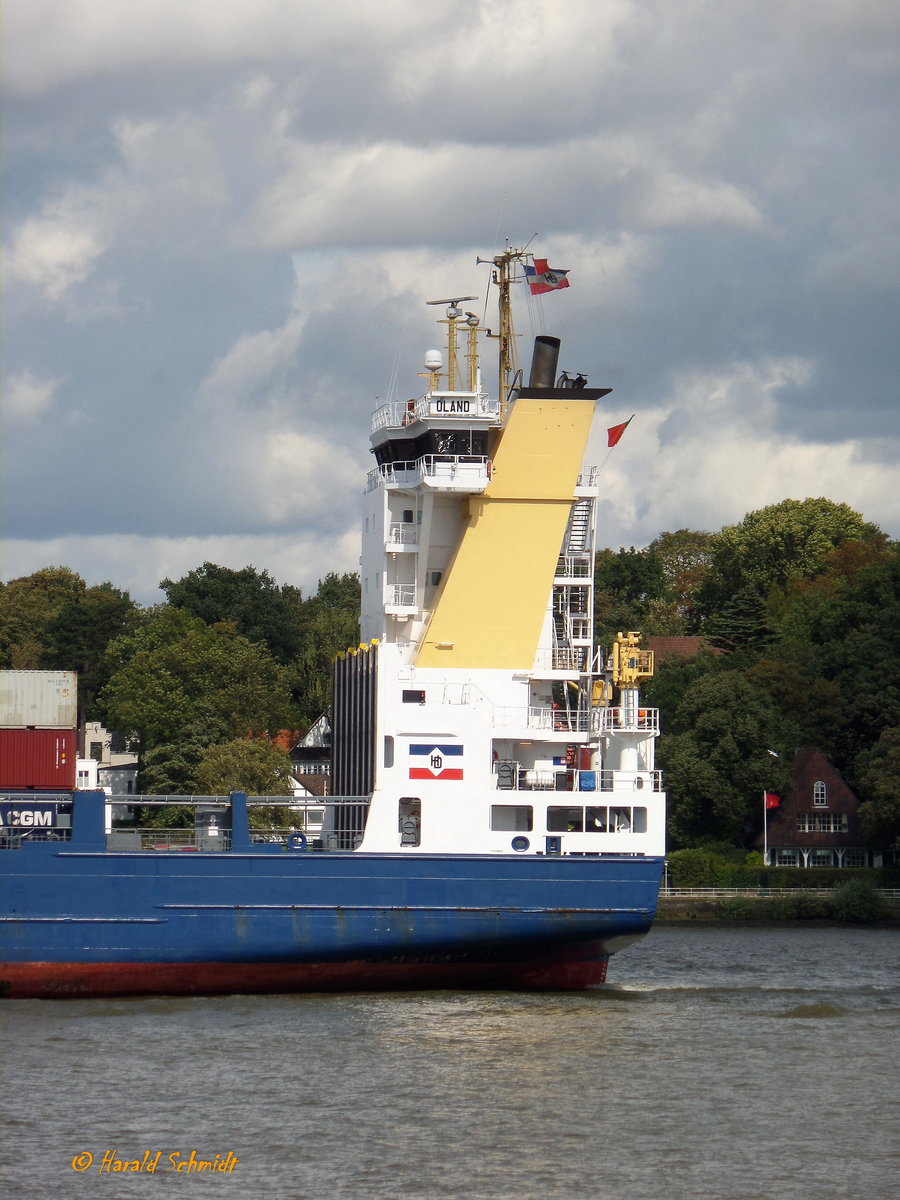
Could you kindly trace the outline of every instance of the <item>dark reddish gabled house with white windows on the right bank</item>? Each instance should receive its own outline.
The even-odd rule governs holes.
[[[791,790],[767,811],[773,866],[869,866],[859,800],[821,750],[797,750]],[[760,835],[762,850],[763,838]]]

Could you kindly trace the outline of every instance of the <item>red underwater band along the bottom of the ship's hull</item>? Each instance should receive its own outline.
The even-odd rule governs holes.
[[[215,996],[431,988],[581,990],[606,982],[608,958],[522,962],[4,962],[0,996]]]

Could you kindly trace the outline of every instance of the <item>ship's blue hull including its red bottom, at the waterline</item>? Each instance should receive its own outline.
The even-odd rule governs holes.
[[[269,846],[115,852],[91,840],[2,852],[4,995],[581,988],[647,932],[662,866]]]

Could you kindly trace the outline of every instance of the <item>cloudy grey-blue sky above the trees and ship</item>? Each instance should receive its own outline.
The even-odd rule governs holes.
[[[637,414],[604,545],[806,496],[900,535],[896,5],[4,7],[4,578],[355,570],[425,301],[535,234],[592,461]]]

